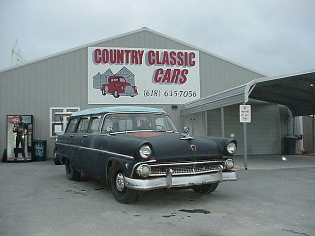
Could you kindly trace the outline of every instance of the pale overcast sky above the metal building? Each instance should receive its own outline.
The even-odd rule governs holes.
[[[269,75],[315,69],[315,0],[0,0],[0,69],[146,26]]]

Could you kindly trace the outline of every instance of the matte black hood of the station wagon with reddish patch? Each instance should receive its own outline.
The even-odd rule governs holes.
[[[125,154],[138,156],[139,148],[147,143],[152,146],[153,156],[159,162],[218,159],[223,155],[220,146],[207,137],[198,136],[191,140],[182,140],[184,137],[179,133],[165,131],[115,134],[112,136],[114,139],[111,147],[114,148],[113,146],[119,143],[121,147],[116,148],[119,148],[117,150],[120,150],[120,153],[123,151]],[[131,149],[133,153],[129,152]]]

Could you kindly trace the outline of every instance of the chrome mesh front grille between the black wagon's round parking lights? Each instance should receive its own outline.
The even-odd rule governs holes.
[[[151,174],[153,176],[166,176],[169,169],[173,175],[197,175],[202,173],[217,172],[220,165],[224,166],[222,161],[202,161],[202,162],[185,162],[185,163],[167,163],[167,164],[150,164]]]

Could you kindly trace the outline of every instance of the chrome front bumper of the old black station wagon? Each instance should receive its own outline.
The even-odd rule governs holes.
[[[181,176],[172,177],[168,174],[166,177],[158,177],[151,179],[135,179],[125,177],[125,184],[127,188],[135,190],[152,190],[158,188],[173,188],[173,187],[189,187],[193,185],[201,185],[208,183],[216,183],[222,181],[237,180],[235,172],[216,172],[197,176]]]

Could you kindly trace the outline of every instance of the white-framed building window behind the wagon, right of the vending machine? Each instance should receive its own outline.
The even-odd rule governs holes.
[[[49,136],[55,138],[58,134],[62,134],[65,130],[71,113],[79,111],[79,107],[51,107],[49,109]],[[56,113],[69,113],[65,116],[56,116]]]

